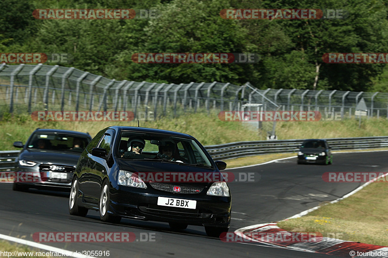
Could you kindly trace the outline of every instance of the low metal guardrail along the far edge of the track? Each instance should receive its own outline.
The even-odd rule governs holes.
[[[330,138],[326,139],[333,151],[351,149],[387,148],[388,136]],[[205,146],[214,160],[242,158],[265,153],[297,152],[303,139],[242,141]],[[20,151],[0,151],[0,171],[15,169],[15,159]]]

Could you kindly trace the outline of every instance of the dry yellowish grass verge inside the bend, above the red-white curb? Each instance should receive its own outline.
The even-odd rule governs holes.
[[[324,237],[388,245],[386,182],[373,182],[337,203],[321,206],[305,216],[278,223],[294,232],[320,232]]]

